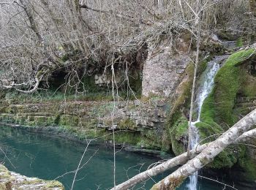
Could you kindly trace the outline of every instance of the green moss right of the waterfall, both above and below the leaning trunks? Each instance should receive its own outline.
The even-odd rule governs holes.
[[[215,140],[223,132],[227,131],[238,120],[233,113],[238,93],[253,95],[255,84],[246,81],[244,64],[249,63],[249,58],[254,56],[255,50],[241,50],[227,59],[224,66],[219,69],[214,82],[215,86],[211,94],[206,98],[200,115],[200,123],[196,126],[200,132],[202,143]],[[246,91],[244,90],[246,89]],[[222,151],[208,167],[222,168],[232,167],[239,159],[244,158],[245,147],[232,145]]]

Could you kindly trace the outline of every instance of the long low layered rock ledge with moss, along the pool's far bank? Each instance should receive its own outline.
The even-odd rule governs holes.
[[[161,150],[168,106],[163,99],[142,102],[0,103],[0,121],[23,126],[48,126],[80,140],[102,137],[114,128],[118,143]],[[102,140],[111,140],[111,135]]]

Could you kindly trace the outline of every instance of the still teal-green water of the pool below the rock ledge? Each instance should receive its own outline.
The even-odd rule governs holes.
[[[0,146],[12,162],[10,163],[4,154],[0,153],[0,161],[9,170],[45,180],[57,178],[66,189],[70,189],[72,185],[74,177],[72,171],[78,167],[86,147],[60,137],[47,137],[8,126],[0,127]],[[159,161],[157,158],[119,151],[116,154],[116,183],[121,183],[138,172],[146,170],[150,164],[157,161]],[[113,186],[113,149],[90,145],[81,165],[83,164],[85,165],[78,172],[74,189],[110,189]],[[65,173],[67,174],[64,175]],[[146,183],[141,183],[136,188],[150,189],[154,180],[158,181],[168,173],[170,171]],[[186,183],[179,189],[187,189]],[[223,189],[223,186],[199,179],[197,189],[215,190]]]

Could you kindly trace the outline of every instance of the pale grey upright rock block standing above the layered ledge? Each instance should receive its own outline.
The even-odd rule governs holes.
[[[170,46],[161,45],[159,50],[149,48],[143,66],[143,96],[157,94],[167,97],[173,94],[190,61],[184,55],[173,56]]]

